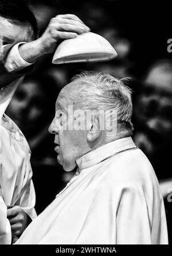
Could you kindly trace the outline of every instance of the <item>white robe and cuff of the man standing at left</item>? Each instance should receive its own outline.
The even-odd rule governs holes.
[[[30,65],[19,57],[18,45],[13,47],[7,57],[7,70],[14,71],[17,70],[16,67]],[[37,216],[34,210],[36,196],[32,182],[30,148],[17,125],[4,114],[22,79],[23,77],[0,89],[0,244],[11,244],[7,205],[19,205],[31,219]]]

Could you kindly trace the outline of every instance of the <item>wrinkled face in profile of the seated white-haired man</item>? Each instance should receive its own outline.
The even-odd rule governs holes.
[[[75,116],[75,111],[82,109],[77,102],[77,90],[77,81],[73,81],[60,91],[56,101],[56,114],[49,127],[49,132],[55,135],[57,161],[65,171],[75,169],[76,159],[88,152],[87,129],[75,127],[77,120],[85,119],[84,115],[79,118]]]

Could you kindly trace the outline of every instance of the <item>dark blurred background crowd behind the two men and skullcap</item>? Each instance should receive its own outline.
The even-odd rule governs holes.
[[[127,85],[133,90],[133,139],[150,159],[161,184],[171,242],[172,202],[167,197],[172,192],[172,52],[167,51],[167,40],[172,38],[172,3],[24,2],[36,15],[40,35],[50,18],[72,13],[92,32],[110,41],[118,53],[118,58],[110,62],[60,65],[53,65],[52,55],[46,55],[38,60],[16,91],[7,115],[21,128],[32,151],[37,213],[53,201],[73,175],[64,173],[57,163],[54,136],[48,133],[57,95],[81,70],[103,71],[118,78],[131,78]],[[172,200],[172,196],[168,198]]]

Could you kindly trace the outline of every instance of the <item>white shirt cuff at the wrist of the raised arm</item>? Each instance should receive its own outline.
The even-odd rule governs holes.
[[[26,44],[25,42],[21,42],[15,44],[13,48],[11,48],[7,58],[5,60],[5,68],[8,72],[18,72],[25,67],[31,66],[33,63],[26,62],[21,55],[19,54],[18,47],[21,44]]]

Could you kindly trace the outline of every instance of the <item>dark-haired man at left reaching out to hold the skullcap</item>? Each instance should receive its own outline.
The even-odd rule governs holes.
[[[0,244],[10,244],[36,217],[30,149],[4,114],[7,105],[39,56],[54,52],[59,39],[88,31],[78,17],[64,14],[52,18],[37,39],[36,18],[28,7],[19,0],[0,0]]]

